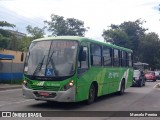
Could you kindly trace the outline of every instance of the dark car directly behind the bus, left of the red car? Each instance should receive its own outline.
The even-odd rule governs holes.
[[[134,70],[133,72],[133,85],[132,86],[138,86],[142,87],[145,86],[145,79],[144,74],[140,70]]]

